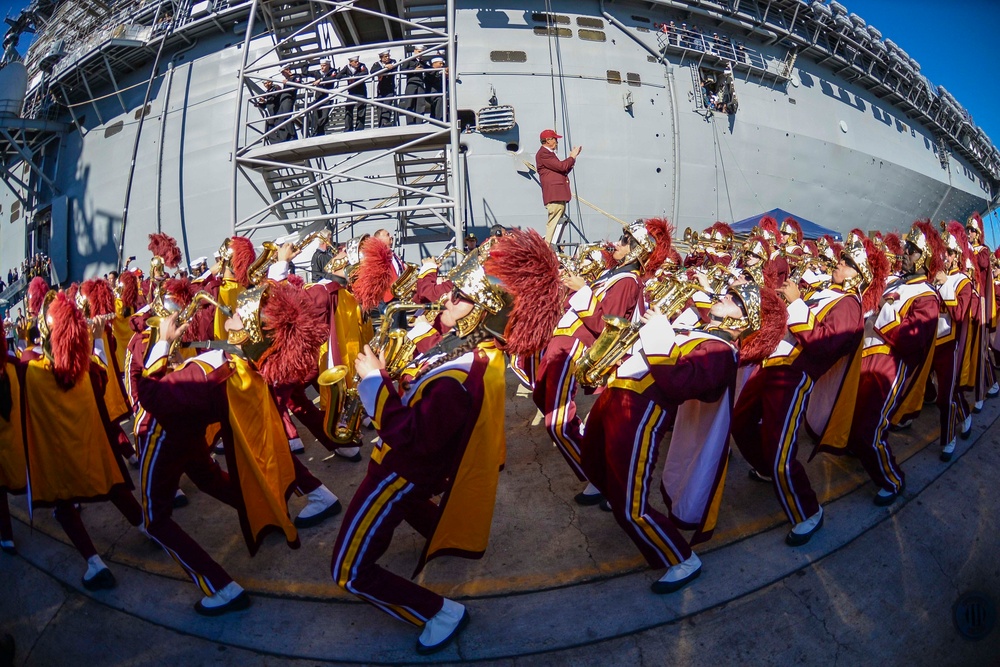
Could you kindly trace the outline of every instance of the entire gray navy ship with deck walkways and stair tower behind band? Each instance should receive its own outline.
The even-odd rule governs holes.
[[[37,35],[23,64],[9,38],[0,70],[24,90],[0,109],[0,268],[41,251],[60,281],[144,254],[154,231],[190,260],[232,233],[384,227],[416,261],[496,223],[540,229],[547,127],[584,146],[568,243],[637,217],[701,228],[775,207],[838,230],[964,219],[1000,185],[1000,153],[962,106],[837,2],[36,0],[27,14],[9,35]],[[356,80],[317,83],[323,59],[371,66],[385,50],[388,98],[371,71],[367,100]],[[410,111],[406,71],[431,55],[447,67],[421,75],[433,90]],[[343,131],[362,102],[364,124]]]

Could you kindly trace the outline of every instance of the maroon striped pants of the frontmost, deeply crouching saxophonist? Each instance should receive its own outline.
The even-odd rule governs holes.
[[[371,462],[344,514],[330,565],[344,590],[400,620],[423,625],[441,611],[444,598],[378,565],[403,521],[424,537],[436,522],[434,490],[408,482]]]

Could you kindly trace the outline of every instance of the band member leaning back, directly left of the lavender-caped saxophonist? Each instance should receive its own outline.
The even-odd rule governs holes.
[[[668,238],[669,235],[664,220],[637,220],[623,230],[621,239],[615,244],[615,269],[606,271],[593,285],[587,285],[581,276],[567,274],[562,277],[563,285],[573,295],[542,353],[535,372],[532,400],[545,416],[545,428],[552,442],[581,482],[587,478],[580,467],[583,435],[580,417],[576,414],[576,362],[604,329],[605,316],[637,321],[642,315],[640,275],[644,267],[655,269],[666,257],[666,251],[658,258],[653,257],[653,252],[657,237]],[[596,487],[588,483],[575,500],[581,505],[596,505],[602,498]]]

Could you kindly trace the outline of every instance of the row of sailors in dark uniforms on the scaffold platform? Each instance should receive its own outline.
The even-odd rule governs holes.
[[[295,73],[292,67],[284,67],[280,76],[265,80],[262,94],[252,103],[266,118],[264,132],[270,133],[267,140],[277,143],[297,139],[300,131],[305,136],[326,134],[335,106],[344,109],[345,132],[369,126],[369,107],[372,127],[393,127],[401,118],[407,125],[426,122],[422,117],[445,119],[448,68],[444,57],[421,44],[401,63],[389,50],[378,57],[368,67],[360,55],[352,55],[340,68],[331,59],[323,58],[315,71]],[[335,100],[335,89],[346,96]],[[374,105],[369,103],[373,97]],[[308,101],[300,102],[300,98]],[[286,122],[304,105],[309,108],[305,122]]]

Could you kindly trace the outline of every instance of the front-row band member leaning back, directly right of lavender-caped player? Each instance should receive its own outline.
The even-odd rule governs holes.
[[[817,381],[861,341],[860,293],[872,279],[859,240],[841,254],[830,289],[809,303],[797,284],[785,280],[779,290],[788,303],[785,339],[747,380],[733,412],[733,440],[754,470],[771,472],[775,495],[792,522],[789,546],[805,544],[823,525],[823,508],[796,458],[798,430]]]

